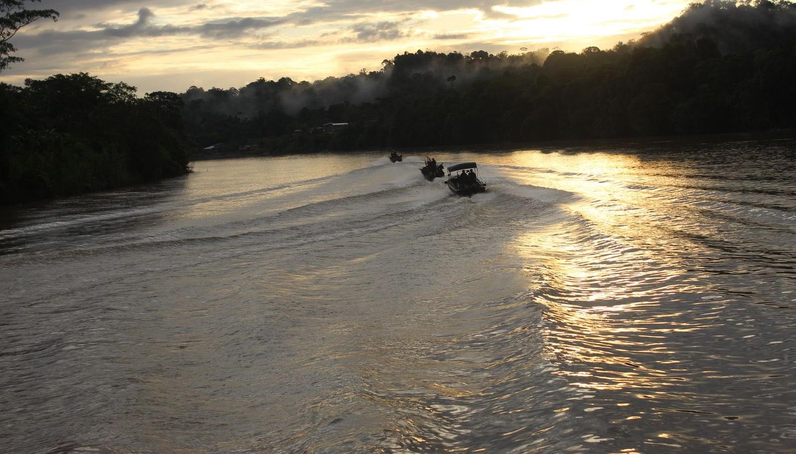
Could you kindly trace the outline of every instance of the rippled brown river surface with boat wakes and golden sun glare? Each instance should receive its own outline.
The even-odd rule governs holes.
[[[0,452],[796,452],[794,142],[435,157],[5,211]]]

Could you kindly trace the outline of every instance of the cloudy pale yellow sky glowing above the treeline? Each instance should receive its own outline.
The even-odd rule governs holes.
[[[318,80],[396,53],[610,48],[670,21],[689,0],[42,0],[11,42],[25,78],[89,72],[149,91]]]

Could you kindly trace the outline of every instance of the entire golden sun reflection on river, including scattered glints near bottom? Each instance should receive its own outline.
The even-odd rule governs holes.
[[[728,289],[717,281],[746,272],[730,264],[745,258],[739,246],[756,244],[747,226],[762,211],[759,203],[728,203],[712,170],[671,155],[518,152],[510,161],[506,173],[518,184],[576,195],[544,211],[552,220],[542,228],[529,219],[509,243],[522,262],[534,265],[525,277],[533,301],[544,308],[545,358],[579,391],[569,411],[615,415],[620,433],[664,427],[662,421],[686,415],[723,424],[704,418],[720,415],[718,402],[735,399],[728,389],[756,379],[755,370],[739,363],[741,355],[708,352],[756,335],[728,328],[753,319],[720,316],[745,308],[720,296]],[[737,184],[757,189],[745,180]],[[776,211],[765,215],[770,223],[789,219]],[[744,237],[746,243],[730,243]],[[724,257],[710,262],[717,253]],[[727,258],[732,254],[737,258]],[[718,373],[728,363],[737,369]],[[687,430],[645,433],[641,445],[615,452],[704,441],[684,435]]]

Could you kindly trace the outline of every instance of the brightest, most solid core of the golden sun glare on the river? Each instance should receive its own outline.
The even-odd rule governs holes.
[[[640,182],[636,175],[644,162],[620,153],[526,152],[517,153],[512,165],[530,169],[513,174],[521,184],[580,196],[561,207],[578,220],[535,227],[512,243],[521,258],[541,264],[529,279],[535,301],[546,307],[548,360],[566,364],[558,373],[588,390],[660,393],[683,380],[666,367],[678,352],[670,336],[715,325],[681,321],[682,310],[654,315],[669,295],[696,291],[688,267],[666,253],[689,250],[688,240],[673,237],[656,219],[677,211],[656,196],[668,183],[667,172]],[[665,166],[656,162],[656,168]],[[651,189],[634,189],[642,183]]]

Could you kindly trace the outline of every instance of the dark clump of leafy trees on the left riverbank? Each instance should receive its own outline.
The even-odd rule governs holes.
[[[0,83],[0,204],[188,171],[182,100],[88,74]]]

